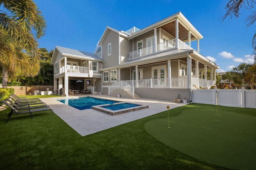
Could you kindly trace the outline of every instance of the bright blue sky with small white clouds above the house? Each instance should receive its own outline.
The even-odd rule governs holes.
[[[47,22],[39,47],[55,46],[93,53],[106,26],[126,31],[143,29],[176,12],[181,12],[204,36],[200,53],[230,71],[242,62],[253,62],[252,37],[255,26],[246,27],[252,10],[240,10],[239,18],[220,19],[228,0],[34,0]],[[193,46],[194,45],[194,46]],[[196,49],[195,43],[192,47]]]

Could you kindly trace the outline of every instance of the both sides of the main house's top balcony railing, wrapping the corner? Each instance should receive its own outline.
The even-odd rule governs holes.
[[[189,47],[186,43],[184,43],[180,39],[178,40],[178,46],[176,43],[176,39],[171,39],[169,41],[166,41],[166,42],[163,42],[160,44],[156,44],[156,45],[152,45],[150,47],[132,51],[129,53],[129,59],[135,59],[138,57],[143,57],[143,56],[150,55],[150,54],[153,54],[156,52],[165,51],[168,49],[174,49],[177,47],[180,47],[182,49],[192,49],[191,47]]]

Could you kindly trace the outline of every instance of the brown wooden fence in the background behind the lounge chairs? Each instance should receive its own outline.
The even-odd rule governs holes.
[[[53,91],[53,86],[7,86],[7,88],[14,88],[14,94],[16,95],[29,95],[33,94],[34,90],[46,91],[49,88],[49,91]]]

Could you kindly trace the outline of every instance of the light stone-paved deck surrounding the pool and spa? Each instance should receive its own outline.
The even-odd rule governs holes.
[[[128,123],[130,121],[138,120],[144,117],[148,117],[150,115],[154,115],[156,113],[160,113],[166,110],[167,105],[170,106],[170,109],[185,105],[183,103],[174,103],[145,98],[114,98],[103,94],[69,96],[68,98],[78,98],[85,96],[146,105],[149,106],[149,108],[112,116],[107,113],[97,111],[95,109],[79,110],[56,100],[64,99],[64,97],[40,98],[40,100],[50,106],[56,115],[58,115],[62,120],[64,120],[68,125],[70,125],[70,127],[72,127],[77,133],[82,136],[90,135],[98,131],[103,131],[111,127],[115,127],[124,123]]]

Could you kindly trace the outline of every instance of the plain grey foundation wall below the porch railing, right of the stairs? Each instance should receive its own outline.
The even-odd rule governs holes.
[[[190,101],[190,89],[174,89],[174,88],[135,88],[135,92],[142,98],[166,100],[174,102],[174,99],[180,95],[181,102],[183,99]]]

